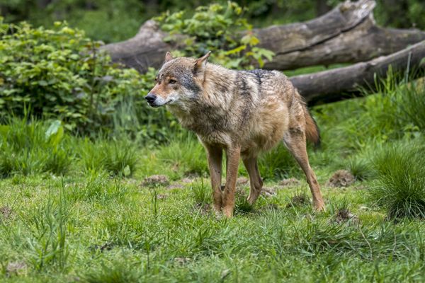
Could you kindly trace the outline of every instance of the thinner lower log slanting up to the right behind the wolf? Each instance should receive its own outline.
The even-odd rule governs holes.
[[[293,76],[290,81],[309,105],[329,103],[361,94],[360,88],[375,88],[375,78],[383,78],[392,71],[425,69],[425,40],[388,56],[348,67]],[[419,72],[420,74],[420,72]]]

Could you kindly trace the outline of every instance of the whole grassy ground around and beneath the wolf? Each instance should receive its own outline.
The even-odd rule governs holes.
[[[239,185],[233,219],[208,209],[191,134],[152,149],[11,120],[0,127],[0,281],[424,282],[425,119],[409,112],[424,96],[387,82],[314,108],[323,142],[309,153],[327,212],[312,211],[279,146],[259,166],[271,193],[249,207]],[[339,169],[356,181],[331,187]],[[143,182],[154,174],[170,184]],[[300,183],[280,183],[290,177]]]

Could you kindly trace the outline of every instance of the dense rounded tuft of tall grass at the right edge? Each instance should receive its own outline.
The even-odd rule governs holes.
[[[417,144],[386,147],[375,157],[378,180],[370,190],[390,219],[425,217],[425,150]]]

